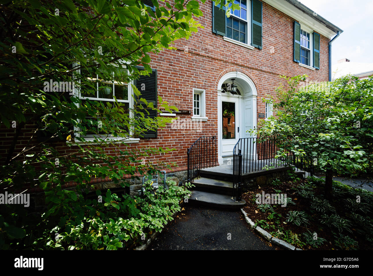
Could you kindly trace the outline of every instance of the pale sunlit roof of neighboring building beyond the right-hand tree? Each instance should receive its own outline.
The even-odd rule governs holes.
[[[373,63],[351,62],[347,58],[339,59],[338,63],[332,66],[333,80],[347,75],[353,75],[359,79],[373,76]]]

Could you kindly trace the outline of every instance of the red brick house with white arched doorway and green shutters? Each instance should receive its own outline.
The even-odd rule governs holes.
[[[283,83],[279,75],[307,74],[313,82],[329,78],[329,42],[342,32],[340,28],[296,0],[239,3],[241,10],[229,18],[212,1],[200,3],[203,17],[195,19],[204,28],[188,40],[178,40],[174,45],[177,50],[151,54],[153,74],[135,82],[147,83],[143,97],[148,101],[156,104],[160,95],[179,110],[190,111],[172,114],[175,120],[179,118],[177,122],[129,141],[131,147],[175,148],[172,153],[152,158],[176,162],[174,172],[180,172],[179,181],[186,180],[182,172],[187,169],[187,150],[199,137],[216,137],[214,160],[219,164],[232,158],[239,139],[251,137],[247,131],[272,115],[272,104],[263,99],[275,96],[275,89]],[[131,86],[115,89],[124,91],[120,101],[132,106]],[[12,139],[3,141],[3,154],[11,143]],[[20,147],[21,143],[16,149]],[[64,141],[57,149],[71,152],[74,145],[67,147]],[[107,150],[113,153],[113,148]],[[92,183],[101,181],[107,179],[93,179]],[[135,188],[131,188],[133,194]]]

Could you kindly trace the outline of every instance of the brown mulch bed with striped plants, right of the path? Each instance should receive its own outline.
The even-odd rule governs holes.
[[[299,246],[299,245],[294,245],[298,248],[302,249],[311,249],[311,250],[333,250],[333,249],[339,249],[337,246],[334,246],[332,243],[334,242],[334,237],[332,235],[332,230],[329,229],[329,227],[319,224],[314,220],[309,219],[310,224],[308,224],[307,227],[304,226],[297,226],[293,223],[287,223],[284,224],[283,222],[286,221],[286,214],[288,214],[289,211],[305,211],[310,217],[315,217],[315,214],[313,215],[310,212],[310,200],[304,199],[300,196],[297,195],[297,192],[294,190],[295,187],[298,185],[301,185],[305,183],[307,180],[299,180],[295,182],[284,182],[280,183],[276,186],[269,185],[266,187],[259,187],[250,190],[247,193],[242,195],[242,198],[246,200],[246,205],[244,206],[244,211],[248,214],[248,217],[256,223],[256,220],[266,220],[267,224],[273,224],[271,223],[267,217],[270,213],[270,211],[267,211],[266,213],[261,212],[258,209],[257,203],[253,200],[256,199],[255,195],[256,194],[262,194],[264,191],[265,194],[276,194],[276,190],[281,190],[280,193],[282,194],[287,194],[287,197],[291,197],[292,200],[296,203],[296,205],[292,204],[287,204],[286,207],[281,207],[281,205],[271,205],[274,209],[274,211],[280,215],[282,215],[282,218],[280,219],[281,221],[281,226],[283,227],[284,230],[291,230],[293,233],[298,234],[298,237],[300,236],[300,239],[304,241],[302,238],[302,234],[307,232],[307,230],[310,230],[311,233],[316,232],[318,237],[326,239],[326,242],[322,246],[319,246],[319,248],[313,248],[311,246]],[[314,190],[317,196],[320,194],[323,194],[323,187],[318,187]],[[335,207],[336,211],[338,212],[339,215],[342,216],[342,214],[345,214],[345,205],[342,202],[342,200],[335,200],[331,202],[331,204]],[[275,228],[276,229],[276,228]],[[268,232],[274,231],[273,229],[265,229]],[[277,230],[277,229],[276,229]],[[354,230],[354,229],[352,229]],[[275,235],[276,236],[276,235]],[[353,234],[349,234],[350,237],[353,239],[357,240],[359,243],[359,248],[363,250],[372,250],[372,247],[366,243],[365,239],[363,237],[360,237],[356,234],[354,231]],[[281,236],[278,236],[279,239],[282,239]]]

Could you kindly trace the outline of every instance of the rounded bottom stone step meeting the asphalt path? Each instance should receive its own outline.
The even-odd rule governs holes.
[[[215,194],[197,190],[192,191],[189,202],[196,205],[213,206],[223,209],[239,209],[246,204],[244,199],[242,199],[242,202],[235,202],[235,200],[232,200],[231,196],[225,194]]]

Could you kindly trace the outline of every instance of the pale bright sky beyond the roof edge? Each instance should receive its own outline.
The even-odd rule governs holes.
[[[298,1],[344,31],[332,43],[332,64],[342,58],[373,63],[372,0]]]

